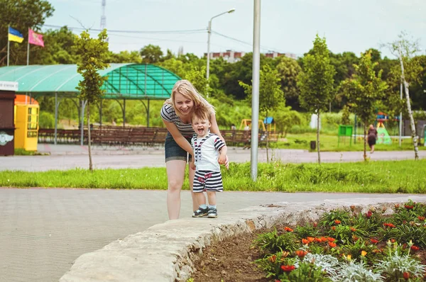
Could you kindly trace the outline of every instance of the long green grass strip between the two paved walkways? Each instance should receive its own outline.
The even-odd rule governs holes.
[[[321,191],[426,193],[426,160],[327,164],[258,164],[251,181],[250,163],[222,169],[225,191]],[[167,189],[165,168],[0,171],[0,186],[62,188]],[[185,179],[184,188],[189,187]]]

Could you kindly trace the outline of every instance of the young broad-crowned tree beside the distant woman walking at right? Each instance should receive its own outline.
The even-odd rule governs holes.
[[[342,82],[342,91],[348,106],[364,124],[364,160],[366,154],[366,128],[375,120],[375,104],[385,97],[388,85],[381,79],[382,71],[376,73],[378,62],[372,62],[371,51],[361,54],[359,65],[354,65],[355,74]]]

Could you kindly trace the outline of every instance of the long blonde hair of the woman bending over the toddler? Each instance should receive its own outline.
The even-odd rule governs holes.
[[[200,93],[198,93],[197,89],[185,79],[176,81],[175,86],[172,89],[172,95],[169,99],[167,99],[164,103],[168,103],[172,105],[175,109],[175,113],[178,117],[182,116],[182,113],[179,111],[178,107],[175,104],[175,96],[176,94],[182,94],[187,99],[191,99],[194,102],[194,106],[191,109],[191,114],[194,112],[195,108],[207,108],[209,111],[214,113],[214,107],[204,99]]]

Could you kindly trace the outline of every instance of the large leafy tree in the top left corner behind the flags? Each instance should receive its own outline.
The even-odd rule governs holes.
[[[0,30],[5,36],[0,37],[0,66],[6,65],[7,36],[10,25],[19,30],[23,38],[28,38],[28,28],[39,30],[45,19],[53,15],[53,6],[45,0],[0,0]],[[27,45],[11,43],[10,64],[26,64]]]

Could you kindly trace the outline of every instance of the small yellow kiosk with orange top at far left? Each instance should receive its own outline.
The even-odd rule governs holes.
[[[38,113],[40,106],[34,98],[16,95],[15,98],[15,148],[37,151]]]

